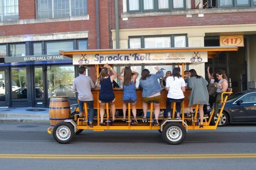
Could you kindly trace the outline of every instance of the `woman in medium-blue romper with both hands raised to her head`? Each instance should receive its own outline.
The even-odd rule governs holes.
[[[124,76],[121,74],[124,73]],[[132,71],[130,67],[125,67],[122,69],[121,73],[118,74],[118,79],[123,82],[123,121],[126,121],[126,102],[125,100],[132,100],[134,103],[131,103],[134,124],[137,124],[136,120],[136,102],[137,102],[137,93],[135,83],[139,73]]]

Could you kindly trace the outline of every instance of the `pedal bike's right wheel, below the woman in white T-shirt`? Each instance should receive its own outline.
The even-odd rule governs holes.
[[[167,144],[181,144],[186,137],[186,129],[181,123],[171,122],[164,126],[162,138]]]

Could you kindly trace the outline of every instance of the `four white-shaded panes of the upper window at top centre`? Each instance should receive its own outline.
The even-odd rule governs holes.
[[[127,0],[128,12],[185,9],[185,0]]]

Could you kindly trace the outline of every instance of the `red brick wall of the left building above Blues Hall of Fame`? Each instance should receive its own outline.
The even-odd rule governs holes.
[[[46,22],[0,26],[0,35],[18,36],[47,34],[58,32],[88,31],[88,49],[96,49],[96,7],[95,0],[87,0],[89,20]],[[99,0],[100,48],[112,48],[111,29],[113,29],[114,4],[108,0]],[[19,1],[19,20],[36,19],[36,1]],[[110,20],[110,22],[108,22]],[[111,43],[110,43],[111,42]]]

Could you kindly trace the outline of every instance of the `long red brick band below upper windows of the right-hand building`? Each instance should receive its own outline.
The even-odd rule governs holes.
[[[254,23],[256,23],[255,12],[204,14],[204,17],[193,14],[192,17],[186,15],[130,17],[126,21],[120,20],[120,29]]]

